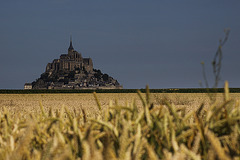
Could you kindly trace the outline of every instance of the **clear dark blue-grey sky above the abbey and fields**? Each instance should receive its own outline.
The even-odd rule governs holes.
[[[23,89],[69,37],[124,88],[195,88],[224,29],[221,81],[240,87],[239,0],[0,0],[0,89]]]

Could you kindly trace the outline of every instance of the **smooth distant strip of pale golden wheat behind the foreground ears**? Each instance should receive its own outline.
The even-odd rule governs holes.
[[[206,93],[150,93],[152,103],[156,106],[162,105],[164,100],[168,100],[176,107],[187,107],[189,110],[199,107],[202,103],[208,106],[211,103],[210,96],[223,101],[224,94],[217,93],[208,95]],[[240,93],[231,93],[231,98],[240,100]],[[136,105],[141,108],[142,102],[137,93],[97,93],[97,97],[103,109],[109,103],[119,105],[131,104],[136,101]],[[60,109],[67,107],[69,110],[86,109],[90,114],[97,110],[97,104],[92,93],[79,94],[0,94],[0,110],[7,108],[10,113],[35,113],[40,111],[40,102],[46,110]]]

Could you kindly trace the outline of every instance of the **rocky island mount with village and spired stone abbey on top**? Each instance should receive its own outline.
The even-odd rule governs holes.
[[[40,78],[26,83],[24,89],[120,89],[117,80],[93,68],[91,58],[74,50],[72,38],[67,54],[48,63]]]

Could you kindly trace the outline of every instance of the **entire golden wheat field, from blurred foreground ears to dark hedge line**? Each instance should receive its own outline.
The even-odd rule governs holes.
[[[240,94],[1,94],[0,160],[238,160]]]

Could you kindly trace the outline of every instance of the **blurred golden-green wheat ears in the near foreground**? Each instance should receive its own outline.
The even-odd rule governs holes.
[[[94,94],[95,119],[86,110],[41,112],[11,117],[0,112],[1,159],[239,159],[240,107],[229,96],[228,83],[221,103],[200,105],[190,112],[163,99],[156,107],[148,87],[138,91],[136,103],[107,108]]]

